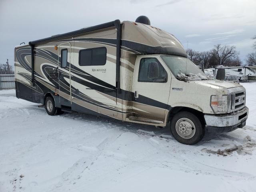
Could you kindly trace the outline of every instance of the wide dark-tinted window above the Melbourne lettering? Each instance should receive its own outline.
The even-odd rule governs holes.
[[[107,59],[106,47],[83,49],[79,51],[79,65],[105,65]]]

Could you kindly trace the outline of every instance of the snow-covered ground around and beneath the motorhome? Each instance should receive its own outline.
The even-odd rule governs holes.
[[[2,90],[0,192],[256,191],[256,82],[242,85],[246,127],[194,146],[176,142],[168,128],[49,116]]]

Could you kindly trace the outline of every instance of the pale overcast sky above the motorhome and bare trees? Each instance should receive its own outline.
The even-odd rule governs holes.
[[[256,51],[256,0],[0,0],[0,64],[8,58],[13,65],[14,47],[22,42],[140,15],[184,48],[234,45],[242,62]]]

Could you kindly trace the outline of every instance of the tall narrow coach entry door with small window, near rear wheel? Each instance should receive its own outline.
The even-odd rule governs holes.
[[[70,77],[70,61],[71,61],[71,44],[60,44],[59,48],[59,90],[60,104],[71,106],[71,77]]]

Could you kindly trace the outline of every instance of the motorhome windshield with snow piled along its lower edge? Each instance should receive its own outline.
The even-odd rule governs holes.
[[[191,60],[181,56],[161,55],[172,74],[178,80],[209,80],[210,76],[204,74]]]

